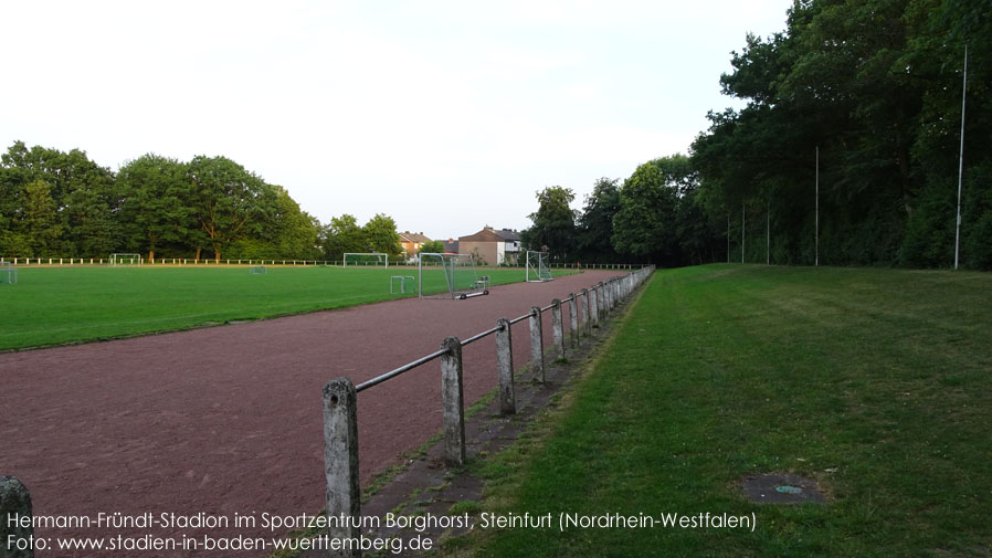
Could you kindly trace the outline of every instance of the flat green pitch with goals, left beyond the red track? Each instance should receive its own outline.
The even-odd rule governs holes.
[[[517,269],[478,274],[497,285],[524,281]],[[398,298],[389,293],[391,275],[416,277],[416,269],[266,266],[252,275],[246,266],[22,267],[17,284],[0,285],[0,350]],[[424,292],[444,285],[440,272],[424,277]]]

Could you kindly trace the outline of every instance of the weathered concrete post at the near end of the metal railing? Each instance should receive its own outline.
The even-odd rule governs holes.
[[[327,535],[331,539],[356,538],[361,516],[361,484],[358,481],[358,398],[348,378],[324,386],[324,476],[327,482]],[[341,516],[353,518],[340,522]],[[344,525],[342,525],[344,524]],[[330,551],[337,558],[358,558],[360,548]]]

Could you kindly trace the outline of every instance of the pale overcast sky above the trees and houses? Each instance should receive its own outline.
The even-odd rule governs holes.
[[[223,155],[328,222],[523,229],[535,193],[687,152],[790,0],[10,1],[0,148]]]

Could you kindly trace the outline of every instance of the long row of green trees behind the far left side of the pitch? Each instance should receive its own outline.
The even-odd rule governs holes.
[[[225,157],[179,161],[154,154],[118,172],[84,151],[28,148],[0,156],[0,256],[339,260],[342,252],[400,252],[395,223],[328,225],[285,188]]]

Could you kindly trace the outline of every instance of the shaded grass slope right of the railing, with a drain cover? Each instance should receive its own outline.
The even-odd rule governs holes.
[[[477,466],[497,513],[757,517],[743,529],[507,529],[465,556],[989,556],[992,275],[658,272],[534,436]],[[826,504],[739,482],[815,478]],[[467,548],[466,548],[467,546]]]

